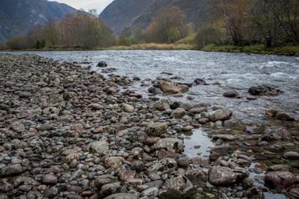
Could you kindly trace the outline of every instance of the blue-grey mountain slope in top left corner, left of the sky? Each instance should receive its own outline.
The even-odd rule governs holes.
[[[47,0],[0,0],[0,41],[29,32],[75,12],[75,8]]]

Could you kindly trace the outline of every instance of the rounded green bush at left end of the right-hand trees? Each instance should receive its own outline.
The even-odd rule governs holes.
[[[200,27],[196,34],[195,42],[199,48],[209,44],[221,44],[220,35],[220,31],[212,25]]]

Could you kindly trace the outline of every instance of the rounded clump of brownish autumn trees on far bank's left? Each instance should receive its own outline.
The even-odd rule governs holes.
[[[102,20],[90,13],[79,11],[59,21],[44,26],[37,25],[25,36],[12,37],[6,42],[6,47],[14,50],[45,47],[91,49],[113,44],[114,35]]]

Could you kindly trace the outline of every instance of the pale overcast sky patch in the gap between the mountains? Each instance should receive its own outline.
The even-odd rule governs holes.
[[[83,8],[85,11],[88,11],[91,8],[97,9],[98,13],[101,13],[108,4],[110,4],[113,0],[50,0],[50,1],[58,1],[60,3],[68,4],[73,8]]]

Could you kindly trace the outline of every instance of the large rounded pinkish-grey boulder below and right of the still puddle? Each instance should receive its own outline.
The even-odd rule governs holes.
[[[212,167],[209,169],[209,183],[214,186],[229,186],[234,184],[238,174],[228,167]]]

